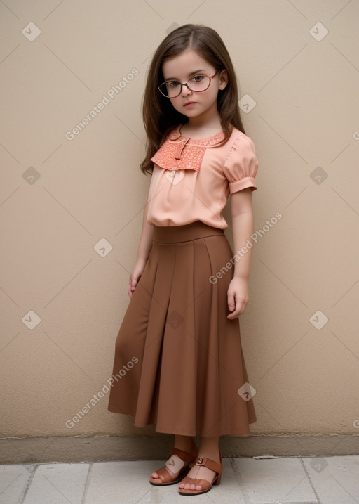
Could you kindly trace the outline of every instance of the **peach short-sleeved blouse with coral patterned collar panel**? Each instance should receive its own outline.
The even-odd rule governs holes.
[[[222,216],[229,194],[257,189],[258,161],[249,136],[233,128],[207,138],[186,138],[175,127],[151,161],[147,222],[182,226],[196,220],[226,229]]]

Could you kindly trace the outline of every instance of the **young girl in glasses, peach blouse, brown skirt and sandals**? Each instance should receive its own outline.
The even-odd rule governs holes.
[[[252,399],[241,394],[248,375],[238,316],[248,304],[258,162],[237,103],[215,30],[184,25],[165,37],[144,92],[141,169],[152,176],[109,411],[175,434],[169,460],[149,481],[179,482],[182,495],[219,484],[219,436],[249,434],[256,421]],[[229,194],[234,256],[222,216]]]

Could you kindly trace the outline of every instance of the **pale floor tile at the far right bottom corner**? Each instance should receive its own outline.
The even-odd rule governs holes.
[[[302,460],[321,504],[359,503],[359,455]]]

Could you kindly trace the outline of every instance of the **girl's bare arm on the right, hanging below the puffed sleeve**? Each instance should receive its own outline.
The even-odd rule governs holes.
[[[252,247],[248,248],[245,244],[253,234],[252,190],[250,188],[239,190],[231,195],[231,216],[234,254],[238,253],[237,251],[241,252],[242,247],[247,250],[244,254],[241,252],[242,257],[235,263],[233,278],[227,292],[228,308],[231,311],[227,318],[233,319],[243,314],[249,299],[248,277]]]

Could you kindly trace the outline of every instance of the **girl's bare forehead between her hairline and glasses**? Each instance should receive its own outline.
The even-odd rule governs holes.
[[[191,47],[188,47],[182,53],[173,56],[169,60],[162,63],[162,73],[165,79],[188,77],[189,74],[196,70],[212,69],[212,65],[202,58]]]

